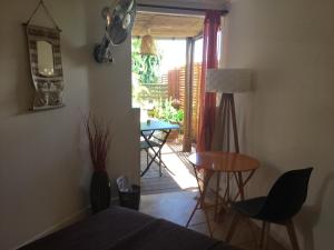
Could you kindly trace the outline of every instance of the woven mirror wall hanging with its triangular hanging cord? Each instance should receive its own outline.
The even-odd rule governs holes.
[[[55,28],[30,24],[39,8],[42,8]],[[60,51],[60,32],[43,1],[40,1],[29,20],[23,23],[27,31],[31,77],[35,87],[32,110],[63,107],[63,74]]]

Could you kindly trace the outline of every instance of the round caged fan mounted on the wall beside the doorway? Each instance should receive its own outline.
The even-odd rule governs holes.
[[[112,62],[111,46],[122,43],[131,32],[136,16],[136,0],[117,0],[115,4],[102,10],[106,19],[106,32],[101,43],[94,50],[97,62]]]

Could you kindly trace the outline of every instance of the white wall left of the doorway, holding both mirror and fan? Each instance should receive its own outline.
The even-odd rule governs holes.
[[[81,129],[82,114],[89,109],[111,120],[115,137],[108,159],[109,174],[115,178],[125,173],[139,181],[139,118],[130,109],[129,41],[115,49],[112,66],[97,64],[91,56],[104,32],[100,10],[110,1],[45,1],[62,29],[66,107],[29,112],[32,82],[21,23],[37,3],[38,0],[1,1],[0,9],[0,249],[3,250],[76,218],[89,204],[91,168]],[[37,21],[40,20],[42,17]]]

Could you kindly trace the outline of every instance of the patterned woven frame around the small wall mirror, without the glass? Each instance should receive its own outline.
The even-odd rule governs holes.
[[[29,60],[31,77],[35,87],[35,98],[32,102],[32,110],[45,110],[63,107],[63,73],[61,63],[60,50],[60,30],[39,27],[27,26],[27,41],[29,50]],[[52,44],[53,57],[53,74],[42,76],[38,70],[38,51],[37,41],[46,41]]]

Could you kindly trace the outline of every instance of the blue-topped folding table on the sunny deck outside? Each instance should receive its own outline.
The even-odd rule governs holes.
[[[161,120],[149,120],[147,122],[140,122],[140,136],[144,138],[149,149],[154,152],[146,169],[141,172],[141,177],[149,170],[153,162],[156,161],[156,158],[161,152],[161,149],[166,143],[170,131],[174,129],[179,129],[179,126]],[[161,132],[160,137],[156,136],[156,132],[158,131]],[[164,164],[164,167],[168,170],[167,166],[161,159],[159,159],[159,164]]]

